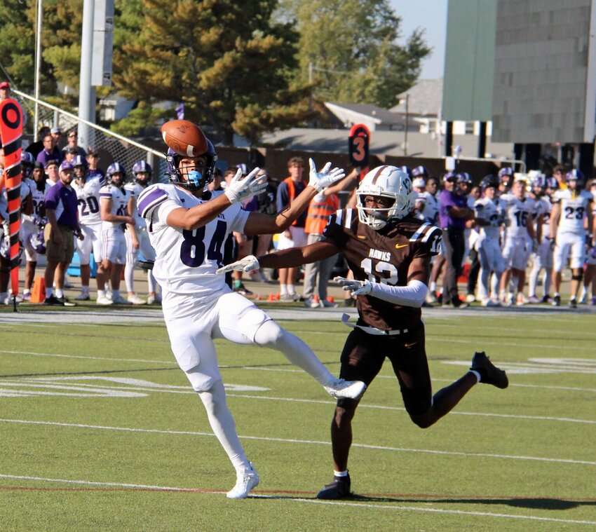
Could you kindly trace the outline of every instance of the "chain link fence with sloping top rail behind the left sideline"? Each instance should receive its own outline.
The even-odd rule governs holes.
[[[90,146],[100,156],[100,168],[105,170],[111,163],[118,162],[126,168],[127,177],[132,179],[130,171],[137,161],[147,161],[153,168],[153,182],[167,182],[165,176],[167,165],[165,156],[160,151],[156,151],[149,146],[144,146],[140,142],[128,139],[122,135],[111,132],[99,125],[83,121],[78,116],[63,111],[42,100],[35,100],[19,90],[11,90],[15,100],[21,104],[23,114],[25,115],[25,135],[35,135],[35,130],[43,126],[48,128],[60,128],[62,137],[66,139],[69,132],[77,130],[79,123],[83,122],[88,126],[89,139],[84,149]],[[37,103],[37,123],[35,123],[35,104]],[[60,148],[62,148],[60,144]]]

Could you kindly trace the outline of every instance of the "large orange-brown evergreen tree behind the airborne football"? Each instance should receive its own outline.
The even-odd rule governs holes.
[[[187,118],[211,125],[227,144],[234,132],[256,142],[265,131],[303,121],[308,90],[291,83],[298,34],[271,19],[276,6],[136,0],[126,12],[134,38],[114,50],[114,83],[122,95],[148,103],[184,102]]]

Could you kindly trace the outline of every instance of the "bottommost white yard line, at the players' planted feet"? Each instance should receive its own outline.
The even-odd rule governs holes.
[[[145,489],[149,491],[180,491],[183,493],[200,491],[208,495],[220,495],[224,491],[215,490],[197,490],[192,488],[180,488],[176,486],[156,486],[151,484],[125,484],[121,482],[95,482],[92,480],[80,480],[80,479],[51,479],[44,477],[29,477],[27,475],[4,475],[0,474],[0,478],[3,479],[15,479],[15,480],[26,480],[31,482],[54,482],[60,484],[75,484],[77,486],[103,486],[107,488],[126,488],[126,489]],[[351,503],[345,500],[317,500],[317,499],[306,499],[296,497],[279,497],[276,495],[261,495],[259,493],[253,493],[250,498],[264,498],[264,499],[275,499],[278,501],[285,501],[287,503],[306,503],[306,504],[319,504],[319,505],[331,505],[340,507],[365,507],[372,510],[400,510],[407,512],[423,512],[433,514],[451,514],[451,515],[473,515],[477,517],[496,517],[499,519],[524,519],[529,521],[544,521],[550,523],[565,523],[565,524],[587,524],[595,525],[596,521],[580,521],[578,519],[557,519],[556,517],[536,517],[531,515],[516,515],[516,514],[501,514],[496,512],[470,512],[467,510],[442,510],[440,508],[428,508],[428,507],[416,507],[416,506],[401,506],[393,505],[388,503],[386,505],[381,504],[370,504],[370,503]],[[421,504],[427,504],[424,500],[420,501]],[[482,502],[480,500],[479,502]]]

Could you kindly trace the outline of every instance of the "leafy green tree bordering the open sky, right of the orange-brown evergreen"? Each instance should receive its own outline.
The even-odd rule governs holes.
[[[280,17],[300,33],[298,81],[318,100],[393,107],[431,53],[424,31],[398,44],[401,19],[388,0],[284,0]]]

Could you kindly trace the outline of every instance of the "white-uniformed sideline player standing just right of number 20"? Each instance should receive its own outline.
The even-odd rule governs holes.
[[[135,198],[124,188],[126,170],[120,163],[112,163],[106,171],[107,185],[100,189],[100,214],[102,218],[102,263],[97,271],[109,278],[111,299],[104,290],[97,290],[97,304],[128,304],[120,295],[120,277],[126,263],[126,238],[130,231],[133,246],[139,247],[135,230]]]

